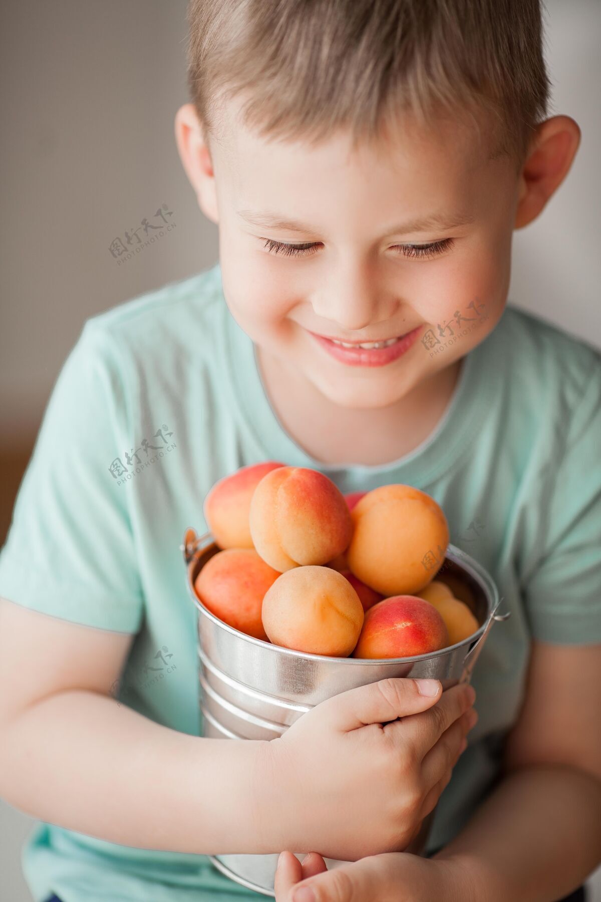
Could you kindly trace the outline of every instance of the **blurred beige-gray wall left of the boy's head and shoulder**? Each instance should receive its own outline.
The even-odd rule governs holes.
[[[0,443],[37,428],[87,317],[217,260],[173,137],[185,15],[183,0],[3,0]],[[114,237],[163,203],[176,228],[118,265]]]

